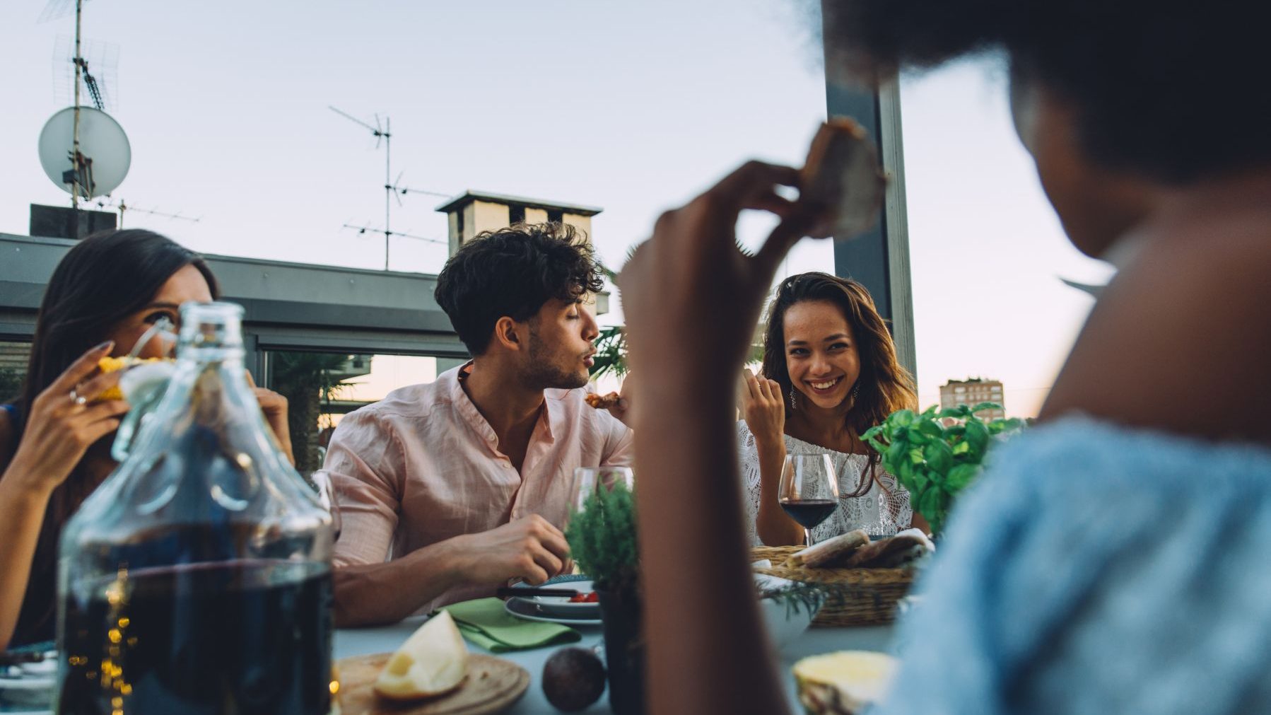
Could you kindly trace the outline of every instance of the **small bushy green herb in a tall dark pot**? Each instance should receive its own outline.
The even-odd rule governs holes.
[[[609,705],[644,712],[644,636],[639,593],[636,497],[624,482],[597,489],[566,527],[573,560],[591,576],[605,621]]]

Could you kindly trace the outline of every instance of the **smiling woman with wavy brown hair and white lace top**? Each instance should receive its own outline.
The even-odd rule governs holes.
[[[887,415],[918,403],[863,285],[820,272],[782,281],[764,332],[763,374],[747,370],[745,383],[737,443],[752,546],[803,541],[803,528],[777,501],[787,453],[829,454],[834,463],[839,506],[812,531],[816,541],[853,529],[891,536],[927,528],[909,492],[860,439]]]

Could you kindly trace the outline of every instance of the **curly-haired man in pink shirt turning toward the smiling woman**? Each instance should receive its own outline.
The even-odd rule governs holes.
[[[351,412],[327,452],[343,522],[338,625],[564,569],[574,468],[632,454],[630,430],[580,389],[599,335],[583,302],[601,288],[591,247],[562,224],[487,232],[446,262],[437,304],[473,360]]]

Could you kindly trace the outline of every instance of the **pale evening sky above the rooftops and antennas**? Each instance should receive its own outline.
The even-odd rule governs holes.
[[[65,106],[52,59],[74,15],[37,23],[44,5],[0,13],[4,233],[28,233],[32,202],[67,202],[36,139]],[[807,8],[92,0],[84,37],[118,46],[109,111],[132,168],[114,197],[202,216],[130,214],[130,226],[206,253],[383,267],[383,237],[341,229],[383,225],[383,150],[334,104],[391,116],[404,186],[602,206],[594,238],[616,266],[658,212],[740,162],[802,163],[825,115]],[[1110,271],[1063,237],[1004,93],[984,64],[902,84],[918,377],[924,405],[949,378],[984,375],[1005,383],[1010,413],[1031,415],[1092,303],[1056,276],[1101,282]],[[403,197],[393,229],[444,238],[440,201]],[[744,233],[754,240],[765,225],[747,220]],[[805,240],[788,271],[833,271],[831,251]],[[445,257],[393,243],[394,270],[436,272]]]

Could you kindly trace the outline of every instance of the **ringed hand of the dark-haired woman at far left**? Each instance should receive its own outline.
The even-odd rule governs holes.
[[[93,377],[113,346],[108,341],[89,350],[36,397],[5,480],[52,494],[93,443],[118,429],[127,401],[93,402],[119,383],[118,371]]]

